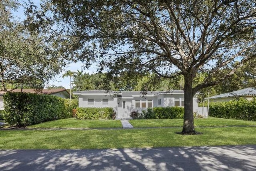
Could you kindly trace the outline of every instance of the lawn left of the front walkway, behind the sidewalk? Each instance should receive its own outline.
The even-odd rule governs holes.
[[[120,120],[58,119],[28,126],[28,128],[121,128]]]

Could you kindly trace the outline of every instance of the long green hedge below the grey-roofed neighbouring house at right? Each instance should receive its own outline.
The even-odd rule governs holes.
[[[228,102],[211,102],[209,116],[256,121],[256,98],[251,101],[240,98]]]

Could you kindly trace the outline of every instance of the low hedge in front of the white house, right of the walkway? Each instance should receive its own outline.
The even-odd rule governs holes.
[[[138,117],[133,119],[174,119],[184,117],[184,107],[153,107],[142,110]]]

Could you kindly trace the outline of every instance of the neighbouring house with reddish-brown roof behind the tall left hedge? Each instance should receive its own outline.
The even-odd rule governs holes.
[[[70,93],[64,88],[52,88],[52,89],[43,89],[42,92],[37,92],[34,89],[14,89],[12,92],[25,92],[25,93],[42,93],[48,95],[56,95],[58,97],[62,97],[64,99],[69,99]],[[6,93],[5,91],[0,91],[0,110],[4,110],[4,99],[3,95]]]

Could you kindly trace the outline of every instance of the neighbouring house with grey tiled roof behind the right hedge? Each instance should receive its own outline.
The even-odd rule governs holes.
[[[234,100],[240,97],[246,100],[251,100],[253,97],[256,97],[256,88],[249,87],[249,88],[240,89],[237,91],[232,91],[229,93],[214,95],[212,97],[209,97],[209,99],[210,99],[210,102],[223,102],[223,101]]]

